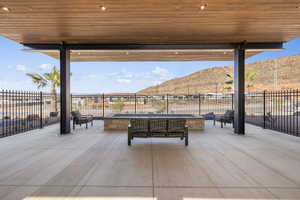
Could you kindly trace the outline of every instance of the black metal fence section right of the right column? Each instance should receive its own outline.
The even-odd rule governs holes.
[[[263,128],[300,136],[298,90],[252,93],[246,98],[246,121]]]

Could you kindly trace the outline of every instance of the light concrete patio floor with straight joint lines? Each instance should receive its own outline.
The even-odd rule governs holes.
[[[219,127],[206,122],[204,132],[190,133],[188,147],[160,138],[128,147],[127,134],[103,132],[102,121],[65,136],[52,125],[2,138],[0,199],[300,199],[300,138]]]

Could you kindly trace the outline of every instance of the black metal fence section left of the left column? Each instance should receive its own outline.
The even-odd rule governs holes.
[[[42,92],[0,91],[0,137],[43,128],[59,121],[53,97]]]

